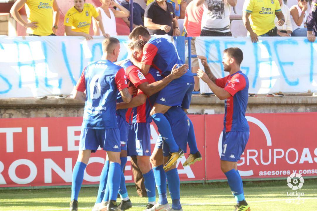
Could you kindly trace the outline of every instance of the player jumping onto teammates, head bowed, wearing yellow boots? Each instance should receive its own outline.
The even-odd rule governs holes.
[[[149,72],[150,66],[155,67],[162,76],[168,76],[171,74],[172,67],[177,64],[178,67],[183,64],[183,61],[179,58],[173,43],[162,37],[151,37],[147,29],[143,26],[138,26],[133,29],[129,35],[129,39],[133,42],[142,40],[146,41],[146,45],[143,48],[143,55],[141,61],[135,56],[131,56],[133,64],[146,75]],[[164,169],[168,169],[177,161],[177,159],[183,156],[184,152],[178,147],[175,139],[172,135],[171,125],[164,116],[164,113],[168,111],[171,106],[181,106],[186,112],[189,108],[191,101],[191,93],[194,87],[194,77],[191,72],[187,72],[182,77],[171,82],[166,86],[158,95],[155,104],[151,110],[152,118],[157,125],[160,134],[166,143],[169,145],[171,156],[164,165]],[[192,123],[190,121],[191,127]],[[193,139],[191,139],[193,141]],[[200,153],[195,144],[189,143],[192,155],[198,158]],[[201,157],[201,156],[200,156]]]

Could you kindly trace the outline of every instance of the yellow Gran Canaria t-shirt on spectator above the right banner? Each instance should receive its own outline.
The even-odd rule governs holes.
[[[281,11],[281,7],[278,0],[246,0],[243,10],[251,14],[251,28],[260,36],[275,27],[275,12]]]

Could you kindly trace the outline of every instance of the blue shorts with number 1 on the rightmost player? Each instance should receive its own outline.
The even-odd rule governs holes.
[[[223,132],[221,160],[237,162],[249,140],[249,132]]]

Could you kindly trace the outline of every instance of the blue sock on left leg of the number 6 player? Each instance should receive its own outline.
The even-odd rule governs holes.
[[[72,175],[72,196],[71,201],[76,200],[78,201],[78,194],[81,188],[82,181],[84,179],[84,170],[86,168],[86,164],[77,161]]]

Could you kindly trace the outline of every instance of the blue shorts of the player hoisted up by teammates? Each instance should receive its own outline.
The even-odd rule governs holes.
[[[179,80],[186,77],[187,80]],[[191,93],[194,90],[194,78],[192,76],[182,76],[179,79],[172,80],[164,89],[162,89],[155,103],[168,106],[181,106],[188,109],[191,104]]]

